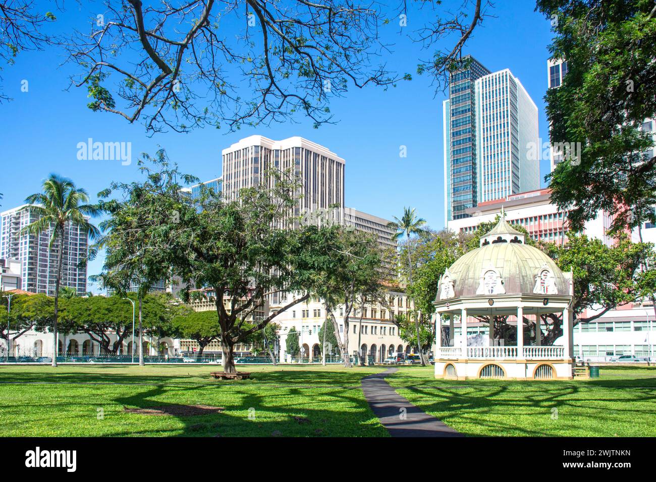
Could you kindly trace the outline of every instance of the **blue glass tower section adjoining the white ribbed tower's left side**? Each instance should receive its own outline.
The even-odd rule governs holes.
[[[476,205],[476,138],[474,85],[490,73],[478,60],[464,56],[464,68],[449,75],[449,99],[443,102],[445,221],[467,217]]]

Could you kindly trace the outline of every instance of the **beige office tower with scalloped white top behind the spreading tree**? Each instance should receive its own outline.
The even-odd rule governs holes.
[[[270,169],[300,176],[303,197],[293,216],[302,211],[344,207],[344,159],[319,144],[302,137],[271,140],[250,136],[222,151],[223,193],[228,201],[239,190],[260,184],[262,173]]]

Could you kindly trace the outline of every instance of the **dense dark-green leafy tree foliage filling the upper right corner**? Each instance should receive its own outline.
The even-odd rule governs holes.
[[[554,28],[550,52],[567,62],[546,94],[550,138],[579,145],[546,178],[573,231],[598,211],[615,228],[656,222],[656,150],[642,131],[656,117],[656,6],[651,0],[538,0]],[[524,146],[520,146],[523,148]]]

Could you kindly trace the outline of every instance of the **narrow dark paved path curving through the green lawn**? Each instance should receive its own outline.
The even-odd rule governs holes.
[[[362,391],[369,402],[369,407],[390,435],[392,437],[464,437],[462,433],[456,432],[396,393],[396,390],[385,381],[385,377],[397,370],[397,368],[390,368],[362,379]],[[401,417],[403,413],[401,409],[405,409],[405,419]]]

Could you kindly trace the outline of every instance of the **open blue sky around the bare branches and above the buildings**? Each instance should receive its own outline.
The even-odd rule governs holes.
[[[66,3],[71,10],[56,12],[57,29],[80,28],[85,19],[102,12],[98,2],[81,3]],[[460,0],[445,1],[449,3],[453,9],[461,5]],[[49,4],[37,1],[44,11],[51,9]],[[472,54],[491,71],[509,68],[520,79],[537,104],[540,136],[548,140],[543,96],[551,33],[548,20],[534,9],[535,3],[526,0],[497,2],[490,10],[496,18],[487,18],[476,29],[463,52]],[[407,29],[419,28],[426,14],[427,10],[411,13]],[[394,22],[382,32],[386,41],[396,44],[388,65],[414,74],[417,59],[430,58],[432,51],[421,50],[398,32]],[[162,146],[182,171],[209,180],[221,174],[223,148],[240,138],[262,134],[274,139],[302,136],[346,159],[348,207],[391,218],[399,216],[404,206],[411,206],[433,228],[444,226],[441,102],[445,96],[435,93],[429,77],[413,75],[412,81],[388,90],[350,89],[346,96],[331,102],[339,122],[319,129],[299,116],[297,123],[232,133],[203,129],[149,137],[141,124],[131,125],[122,117],[89,110],[86,90],[68,89],[71,70],[70,66],[60,66],[63,61],[62,52],[56,49],[23,52],[14,66],[2,72],[2,88],[14,100],[0,105],[1,211],[20,205],[27,195],[39,191],[50,172],[72,178],[91,193],[92,201],[110,181],[138,178],[134,162],[123,166],[119,161],[79,161],[77,143],[87,138],[131,142],[133,160],[140,152],[153,153]],[[24,79],[29,82],[28,92],[20,91]],[[400,146],[407,146],[407,157],[400,157]],[[541,177],[547,172],[548,160],[543,160]],[[89,274],[98,273],[101,266],[102,258],[95,260]]]

